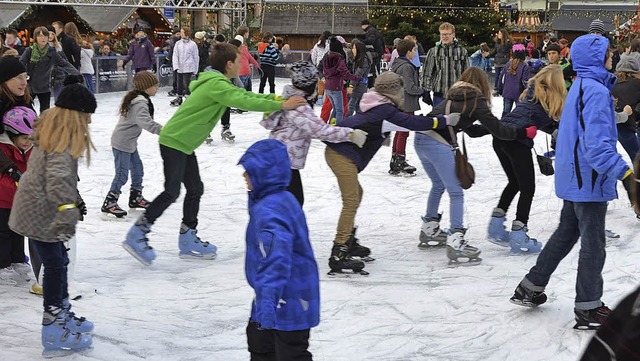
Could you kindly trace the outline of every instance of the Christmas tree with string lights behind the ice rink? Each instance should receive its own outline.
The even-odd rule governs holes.
[[[497,0],[371,0],[371,24],[378,28],[386,44],[405,35],[415,35],[427,50],[439,41],[438,26],[450,22],[456,38],[464,46],[491,44],[495,33],[509,20],[499,11]]]

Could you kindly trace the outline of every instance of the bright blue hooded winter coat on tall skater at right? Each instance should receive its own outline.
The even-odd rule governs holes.
[[[616,181],[629,167],[618,154],[618,131],[610,91],[616,77],[604,67],[609,41],[583,35],[571,46],[578,78],[569,90],[556,146],[556,195],[573,202],[618,197]]]

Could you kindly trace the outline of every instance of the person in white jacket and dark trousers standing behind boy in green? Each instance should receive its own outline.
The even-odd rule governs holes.
[[[189,95],[189,83],[191,77],[198,73],[199,53],[198,45],[191,40],[191,29],[188,26],[180,30],[182,39],[173,47],[171,59],[173,70],[178,75],[178,97],[171,101],[172,106],[182,104],[182,96]]]

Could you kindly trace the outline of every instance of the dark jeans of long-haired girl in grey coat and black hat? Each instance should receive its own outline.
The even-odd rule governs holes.
[[[42,259],[44,277],[42,290],[44,309],[49,306],[62,308],[62,300],[69,297],[67,285],[67,265],[69,257],[63,242],[33,241],[38,255]]]

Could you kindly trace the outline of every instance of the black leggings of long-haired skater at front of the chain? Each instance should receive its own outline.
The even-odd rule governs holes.
[[[531,149],[518,141],[504,141],[493,138],[496,152],[509,183],[502,191],[498,208],[507,211],[516,194],[520,192],[516,220],[524,224],[529,221],[531,203],[536,192],[536,178],[533,169]]]

